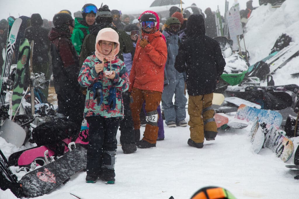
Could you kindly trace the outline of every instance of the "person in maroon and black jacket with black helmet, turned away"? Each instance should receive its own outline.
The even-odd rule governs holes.
[[[49,33],[53,65],[53,79],[58,100],[60,118],[68,116],[77,124],[83,121],[84,97],[78,83],[81,70],[78,54],[70,40],[74,29],[74,19],[67,13],[58,13],[53,18],[54,28]]]

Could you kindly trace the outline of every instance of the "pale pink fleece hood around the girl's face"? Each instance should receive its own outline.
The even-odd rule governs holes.
[[[112,51],[109,53],[109,55],[104,55],[102,53],[99,41],[105,40],[105,41],[111,41],[115,42],[117,45]],[[102,30],[97,33],[95,43],[95,56],[100,60],[103,61],[104,58],[109,60],[110,62],[112,60],[115,60],[116,55],[119,52],[119,41],[118,41],[118,33],[113,30],[112,28],[103,28]]]

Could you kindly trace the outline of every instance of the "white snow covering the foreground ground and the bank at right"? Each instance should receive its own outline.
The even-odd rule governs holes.
[[[250,63],[266,57],[281,33],[288,33],[299,43],[299,1],[286,0],[282,7],[272,9],[261,6],[253,11],[245,34]],[[290,74],[299,72],[299,57],[293,58],[273,75],[275,85],[299,84],[299,78]],[[265,83],[262,83],[265,85]],[[187,115],[186,120],[189,120]],[[221,130],[215,141],[205,141],[202,149],[187,145],[188,127],[168,128],[164,125],[165,140],[157,147],[137,149],[133,154],[123,154],[118,146],[115,165],[116,183],[85,183],[85,172],[80,172],[65,185],[55,189],[45,198],[163,198],[173,196],[190,198],[203,186],[222,186],[242,199],[298,198],[299,181],[294,180],[299,170],[285,165],[294,163],[294,154],[284,163],[271,152],[262,149],[255,154],[248,137],[252,123],[245,129]],[[141,127],[143,132],[144,127]],[[119,140],[120,133],[118,133]],[[299,137],[294,138],[297,149]],[[8,158],[18,150],[0,138],[0,149]],[[295,151],[294,151],[295,153]],[[13,172],[16,167],[11,167]],[[19,179],[24,173],[18,174]],[[12,199],[10,190],[0,190],[0,198]]]

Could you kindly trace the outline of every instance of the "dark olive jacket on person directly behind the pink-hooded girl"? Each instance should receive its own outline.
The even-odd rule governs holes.
[[[112,24],[109,23],[94,24],[91,27],[89,27],[90,34],[87,35],[83,41],[79,62],[80,66],[83,65],[83,62],[89,55],[94,54],[95,39],[97,37],[97,33],[103,28],[112,28],[118,33],[118,41],[120,44],[119,53],[117,54],[118,58],[120,58],[123,61],[123,53],[132,52],[134,47],[130,36],[126,32],[124,32],[123,30],[117,30],[116,27],[112,26]]]

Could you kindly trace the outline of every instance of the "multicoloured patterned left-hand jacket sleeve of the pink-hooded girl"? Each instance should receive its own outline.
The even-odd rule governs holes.
[[[91,65],[91,56],[87,57],[79,72],[78,82],[82,87],[89,87],[97,80],[97,78],[98,78],[97,72],[95,71],[94,67]]]

